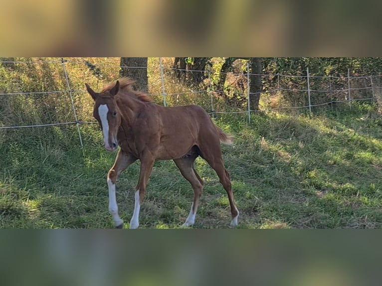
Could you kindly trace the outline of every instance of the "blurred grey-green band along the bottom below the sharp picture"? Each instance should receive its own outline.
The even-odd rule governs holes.
[[[379,233],[7,231],[0,238],[0,283],[380,285]]]

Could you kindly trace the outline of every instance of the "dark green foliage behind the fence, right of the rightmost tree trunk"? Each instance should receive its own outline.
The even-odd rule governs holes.
[[[263,78],[264,90],[283,88],[285,90],[279,92],[279,101],[282,101],[283,105],[307,106],[307,67],[311,90],[333,91],[312,92],[312,104],[322,104],[348,98],[348,69],[350,76],[379,75],[382,70],[382,58],[263,58],[264,74],[271,75]],[[320,78],[322,76],[326,77]],[[370,78],[353,78],[350,85],[356,89],[352,91],[353,99],[374,96],[372,89],[367,89],[372,85]]]

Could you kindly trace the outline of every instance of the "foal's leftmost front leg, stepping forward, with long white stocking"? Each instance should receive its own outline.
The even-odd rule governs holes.
[[[114,225],[116,228],[123,228],[123,220],[119,217],[118,214],[115,184],[121,172],[123,172],[130,164],[136,160],[136,157],[131,154],[127,154],[120,149],[118,151],[114,165],[109,170],[107,175],[107,185],[109,189],[109,212],[113,217]]]

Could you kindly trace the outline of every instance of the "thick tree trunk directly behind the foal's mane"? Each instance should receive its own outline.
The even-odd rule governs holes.
[[[140,67],[140,68],[131,68]],[[122,58],[120,77],[129,76],[136,80],[134,87],[137,90],[148,92],[147,58]]]

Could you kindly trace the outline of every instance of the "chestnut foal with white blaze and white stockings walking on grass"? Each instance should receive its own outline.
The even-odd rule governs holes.
[[[115,227],[123,228],[116,201],[117,178],[138,159],[141,166],[130,228],[139,226],[140,207],[156,160],[173,160],[190,182],[194,196],[183,226],[191,227],[203,190],[203,181],[194,168],[198,156],[206,160],[219,177],[229,200],[232,216],[230,226],[236,226],[239,211],[233,199],[230,175],[224,167],[220,147],[220,143],[232,144],[233,137],[218,128],[200,106],[157,105],[148,94],[134,90],[134,83],[133,79],[123,77],[115,83],[106,84],[99,93],[85,83],[87,92],[94,100],[93,116],[102,130],[105,149],[115,151],[120,147],[107,175],[109,212]]]

